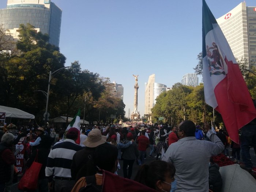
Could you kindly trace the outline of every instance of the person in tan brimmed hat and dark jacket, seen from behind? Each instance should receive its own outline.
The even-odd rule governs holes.
[[[74,154],[71,165],[71,176],[74,180],[79,180],[81,177],[93,175],[95,173],[88,173],[86,167],[87,162],[92,159],[95,148],[106,142],[107,137],[101,135],[99,129],[93,129],[89,132],[87,139],[83,142],[86,146],[83,150]]]

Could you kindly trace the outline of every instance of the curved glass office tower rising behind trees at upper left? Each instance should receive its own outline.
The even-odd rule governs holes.
[[[37,31],[49,35],[49,43],[59,46],[62,11],[50,0],[8,0],[0,10],[0,24],[14,37],[20,24],[30,23]]]

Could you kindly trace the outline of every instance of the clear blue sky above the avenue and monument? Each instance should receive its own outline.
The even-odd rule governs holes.
[[[6,8],[7,0],[0,0]],[[138,76],[138,109],[144,115],[144,83],[172,87],[193,73],[202,51],[202,0],[52,0],[61,8],[60,51],[66,66],[78,60],[82,69],[123,84],[124,104],[133,110]],[[241,0],[206,0],[215,18]],[[246,6],[256,6],[247,0]],[[201,78],[199,78],[201,80]]]

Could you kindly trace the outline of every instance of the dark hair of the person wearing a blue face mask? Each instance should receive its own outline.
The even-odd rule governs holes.
[[[165,181],[165,177],[174,177],[176,172],[172,163],[165,161],[152,161],[149,165],[143,164],[135,176],[135,181],[150,188],[157,189],[157,181]]]

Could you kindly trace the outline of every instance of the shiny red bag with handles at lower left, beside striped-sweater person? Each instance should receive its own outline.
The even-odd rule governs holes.
[[[25,174],[20,179],[18,185],[19,190],[25,191],[37,189],[38,176],[42,167],[42,163],[38,163],[36,161],[37,156],[35,157],[32,165],[29,167],[29,169],[26,170]]]

